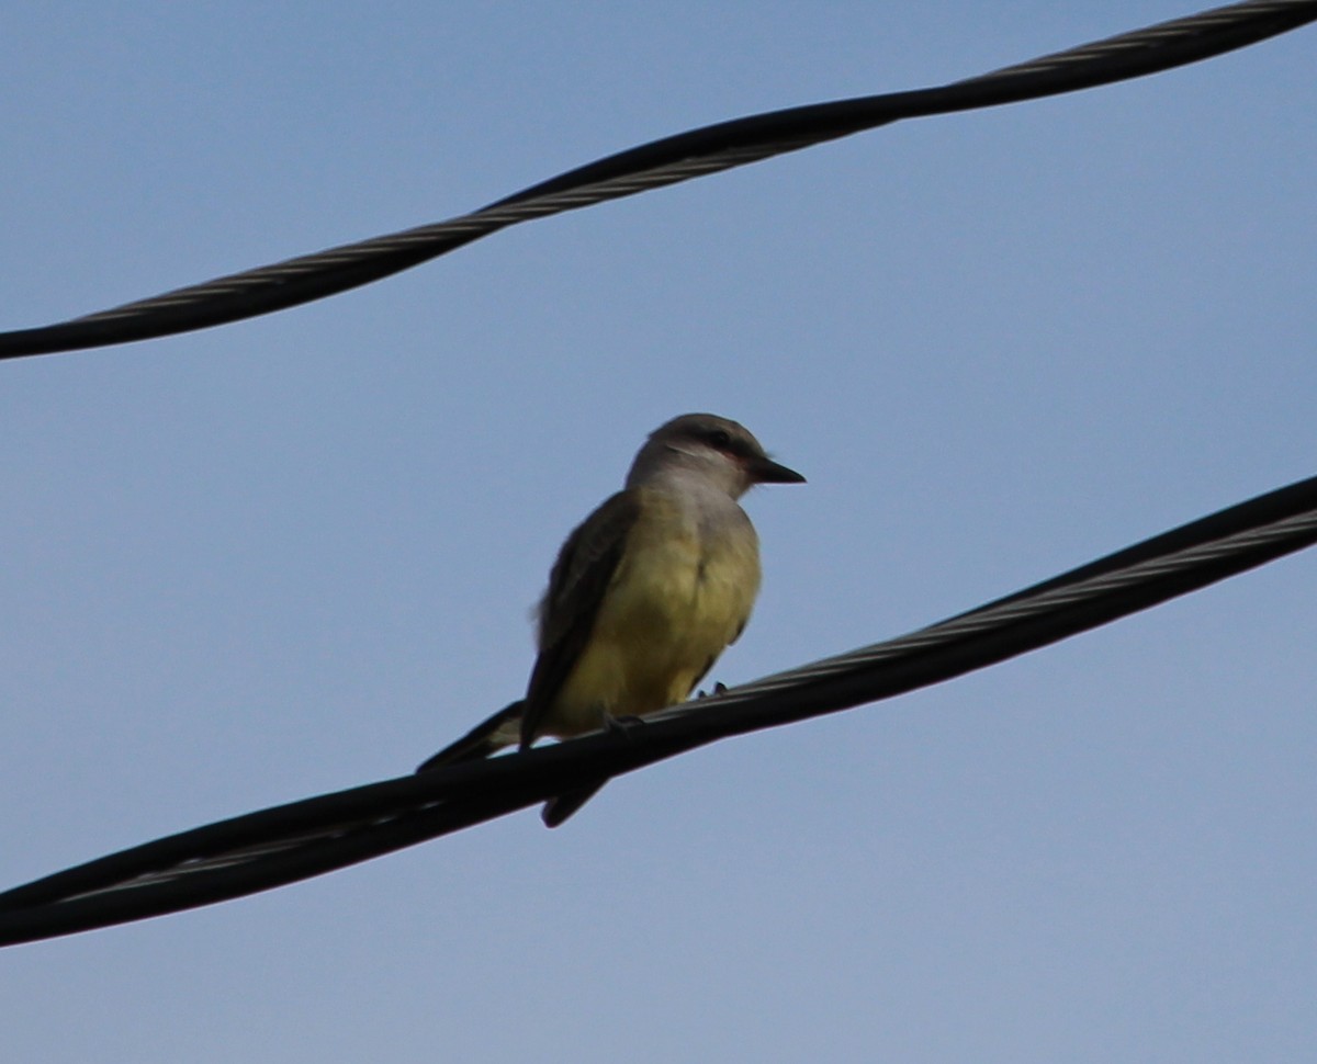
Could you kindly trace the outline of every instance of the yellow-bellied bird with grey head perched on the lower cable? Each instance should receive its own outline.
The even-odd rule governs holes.
[[[622,491],[566,539],[540,600],[539,657],[525,698],[417,769],[487,757],[544,735],[565,739],[686,699],[749,620],[759,536],[738,499],[805,478],[747,428],[712,413],[660,425]],[[544,807],[562,823],[602,784]]]

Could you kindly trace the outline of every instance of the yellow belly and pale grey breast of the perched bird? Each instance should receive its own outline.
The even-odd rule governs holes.
[[[755,532],[748,521],[738,531],[701,536],[661,504],[647,506],[545,733],[593,731],[603,714],[644,716],[691,693],[759,593]]]

